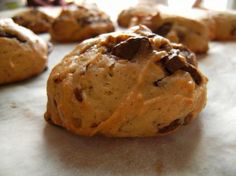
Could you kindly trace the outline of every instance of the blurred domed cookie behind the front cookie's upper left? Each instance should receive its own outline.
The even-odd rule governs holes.
[[[95,5],[78,5],[63,9],[53,21],[50,35],[56,42],[76,42],[114,31],[104,12]]]

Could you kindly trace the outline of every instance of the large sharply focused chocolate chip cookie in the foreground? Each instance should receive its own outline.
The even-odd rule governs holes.
[[[45,119],[85,136],[165,135],[206,104],[195,54],[145,26],[85,40],[51,72]]]

